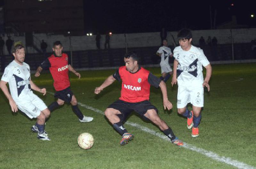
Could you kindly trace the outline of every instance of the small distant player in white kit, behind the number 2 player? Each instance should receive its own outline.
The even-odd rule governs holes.
[[[163,40],[163,45],[161,46],[157,52],[156,55],[161,57],[161,74],[162,76],[160,77],[161,80],[166,82],[172,75],[172,68],[169,64],[169,57],[172,57],[172,51],[170,48],[167,47],[167,40]]]

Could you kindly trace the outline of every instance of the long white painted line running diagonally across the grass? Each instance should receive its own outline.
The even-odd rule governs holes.
[[[52,93],[52,92],[48,92],[48,93],[50,93],[50,94],[52,94],[52,95],[54,94],[54,93]],[[97,108],[94,108],[94,107],[85,105],[85,104],[80,103],[80,102],[77,102],[77,104],[80,105],[80,106],[82,106],[82,107],[84,107],[84,108],[87,108],[87,109],[89,109],[89,110],[92,110],[92,111],[94,111],[94,112],[97,112],[97,113],[99,113],[99,114],[104,114],[103,111],[101,111],[101,110],[99,110],[99,109],[97,109]],[[133,126],[133,127],[136,127],[136,128],[138,128],[138,129],[140,129],[140,130],[142,130],[142,131],[145,131],[145,132],[147,132],[147,133],[150,133],[150,134],[152,134],[152,135],[154,135],[154,136],[158,136],[158,137],[160,137],[160,138],[162,138],[162,139],[164,139],[164,140],[170,141],[170,139],[169,139],[167,136],[165,136],[165,135],[163,135],[163,134],[160,134],[160,133],[156,132],[155,130],[151,130],[151,129],[148,129],[147,127],[141,126],[140,124],[133,123],[133,122],[131,122],[131,121],[126,121],[125,124],[129,124],[129,125],[131,125],[131,126]],[[212,158],[212,159],[214,159],[214,160],[216,160],[216,161],[220,161],[220,162],[223,162],[223,163],[226,163],[226,164],[229,164],[229,165],[233,165],[233,166],[235,166],[235,167],[237,167],[237,168],[248,168],[248,169],[249,169],[249,168],[252,168],[252,169],[255,169],[255,167],[253,167],[253,166],[251,166],[251,165],[247,165],[247,164],[245,164],[245,163],[242,163],[242,162],[239,162],[239,161],[236,161],[236,160],[232,160],[231,158],[220,157],[218,154],[216,154],[216,153],[214,153],[214,152],[212,152],[212,151],[207,151],[207,150],[198,148],[198,147],[196,147],[196,146],[190,145],[190,144],[185,143],[185,142],[183,142],[183,143],[184,143],[184,145],[183,145],[182,147],[184,147],[184,148],[186,148],[186,149],[189,149],[189,150],[192,150],[192,151],[196,151],[196,152],[198,152],[198,153],[201,153],[201,154],[203,154],[203,155],[205,155],[205,156],[207,156],[207,157],[209,157],[209,158]]]

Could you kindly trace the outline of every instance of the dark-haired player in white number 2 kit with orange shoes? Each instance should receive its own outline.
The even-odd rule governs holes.
[[[177,108],[178,113],[187,117],[187,127],[192,128],[192,137],[199,136],[198,126],[201,121],[201,108],[204,107],[204,87],[208,92],[208,84],[212,75],[210,62],[202,49],[191,45],[192,33],[188,29],[182,29],[178,33],[180,46],[173,50],[175,58],[173,62],[172,86],[178,81]],[[203,67],[206,76],[203,77]],[[192,110],[187,108],[192,104]]]

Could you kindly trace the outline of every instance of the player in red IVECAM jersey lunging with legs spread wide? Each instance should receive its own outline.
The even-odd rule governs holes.
[[[133,139],[133,135],[124,128],[123,122],[132,111],[137,112],[143,119],[156,124],[161,131],[171,139],[171,142],[182,146],[183,142],[176,137],[172,129],[158,116],[158,110],[149,102],[150,85],[160,87],[163,94],[164,109],[172,109],[172,103],[168,100],[166,85],[159,78],[138,64],[138,56],[134,52],[125,55],[125,66],[119,67],[116,73],[109,76],[100,87],[95,88],[95,94],[99,94],[105,87],[115,80],[122,80],[121,97],[108,106],[104,114],[113,128],[122,136],[121,145],[127,144]]]

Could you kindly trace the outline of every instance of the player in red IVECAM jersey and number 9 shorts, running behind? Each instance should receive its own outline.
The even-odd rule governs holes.
[[[72,110],[79,118],[80,122],[90,122],[93,118],[86,117],[82,114],[77,106],[76,97],[69,88],[70,81],[68,77],[68,70],[73,72],[79,78],[81,75],[68,63],[68,55],[62,53],[62,49],[63,47],[60,41],[54,42],[52,48],[54,53],[41,63],[36,70],[35,76],[40,76],[43,69],[49,69],[52,74],[52,78],[54,80],[53,86],[56,90],[54,97],[58,98],[58,100],[48,106],[48,109],[51,112],[60,105],[63,105],[65,102],[68,102],[71,103]]]

